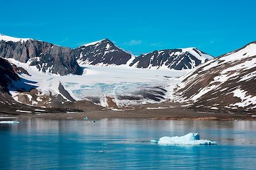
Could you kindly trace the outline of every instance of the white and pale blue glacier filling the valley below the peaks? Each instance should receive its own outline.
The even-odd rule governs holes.
[[[58,89],[61,83],[76,101],[90,100],[104,107],[108,106],[107,96],[111,97],[117,106],[168,101],[173,97],[173,88],[181,81],[179,77],[188,73],[188,70],[140,69],[129,66],[102,67],[82,64],[81,66],[84,67],[82,75],[58,76],[42,73],[36,69],[36,66],[29,66],[28,63],[15,59],[8,59],[8,61],[17,67],[26,69],[31,76],[20,74],[20,77],[35,82],[27,84],[37,86],[36,89],[42,94],[49,95],[51,92],[52,95],[61,95]],[[17,97],[19,92],[11,90],[10,93],[13,99],[19,102]],[[148,94],[156,97],[148,97]],[[24,95],[28,96],[28,94]],[[28,97],[32,99],[31,96]],[[154,100],[157,97],[159,101]],[[39,96],[34,103],[36,104],[40,99]]]

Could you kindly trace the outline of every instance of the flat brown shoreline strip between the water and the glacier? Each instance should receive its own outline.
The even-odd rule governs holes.
[[[99,120],[104,118],[146,118],[148,120],[256,120],[256,113],[221,113],[221,111],[195,111],[189,108],[182,108],[177,103],[145,104],[122,108],[88,108],[82,112],[67,113],[20,113],[14,115],[12,111],[0,114],[0,117],[18,118],[50,118],[50,119],[77,119]],[[253,117],[252,117],[253,116]]]

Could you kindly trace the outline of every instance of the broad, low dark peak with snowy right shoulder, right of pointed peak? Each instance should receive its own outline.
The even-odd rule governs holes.
[[[156,50],[136,57],[129,66],[148,69],[153,67],[156,69],[161,67],[177,70],[193,69],[210,59],[213,59],[211,55],[196,48]]]

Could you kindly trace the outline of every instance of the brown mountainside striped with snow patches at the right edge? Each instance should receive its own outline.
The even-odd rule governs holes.
[[[256,41],[198,66],[184,76],[177,101],[196,110],[255,111]]]

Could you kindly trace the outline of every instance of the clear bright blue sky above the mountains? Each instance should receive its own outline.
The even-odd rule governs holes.
[[[72,48],[109,38],[136,55],[195,46],[214,56],[256,41],[256,1],[1,1],[0,32]]]

